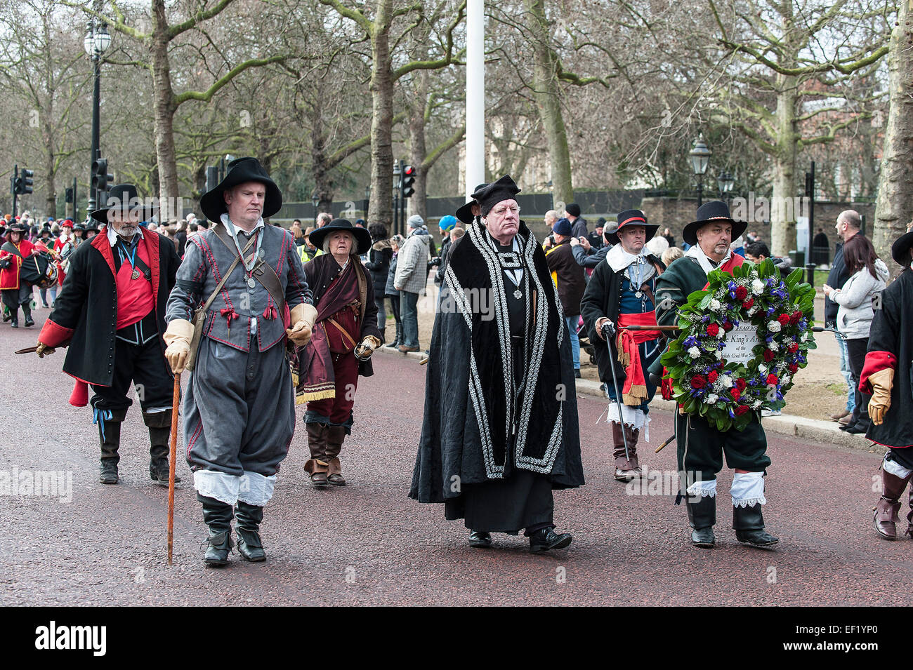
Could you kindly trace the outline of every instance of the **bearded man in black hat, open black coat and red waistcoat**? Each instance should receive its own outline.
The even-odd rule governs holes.
[[[91,398],[101,442],[100,481],[119,479],[121,422],[137,387],[149,428],[152,480],[168,484],[173,377],[164,359],[165,304],[181,263],[172,242],[140,222],[152,208],[132,184],[111,188],[108,202],[91,212],[104,232],[69,255],[69,271],[54,311],[38,335],[38,356],[69,343],[63,371],[76,378],[70,404]],[[107,356],[105,356],[107,354]]]

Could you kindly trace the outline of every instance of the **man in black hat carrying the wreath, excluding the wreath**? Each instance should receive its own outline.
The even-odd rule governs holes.
[[[659,325],[675,325],[678,308],[687,303],[687,296],[707,286],[707,275],[719,269],[724,273],[745,263],[745,259],[729,249],[746,222],[735,221],[729,206],[722,201],[705,202],[698,207],[698,217],[685,226],[682,237],[691,247],[685,256],[674,263],[656,283],[656,321]],[[659,359],[650,371],[662,368]],[[658,374],[658,373],[657,373]],[[716,545],[713,526],[717,521],[717,473],[722,468],[722,454],[735,470],[732,487],[732,527],[736,539],[754,547],[770,547],[779,540],[764,530],[761,507],[764,497],[764,473],[771,464],[767,456],[767,437],[761,428],[760,411],[751,410],[751,421],[742,430],[720,432],[710,422],[694,414],[676,413],[678,470],[687,477],[687,515],[693,529],[691,543],[696,547]]]

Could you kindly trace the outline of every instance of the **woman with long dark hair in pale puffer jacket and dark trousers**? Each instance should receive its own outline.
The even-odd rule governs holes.
[[[865,434],[869,426],[868,401],[870,396],[859,390],[859,377],[866,361],[868,332],[881,308],[881,292],[885,290],[890,273],[887,265],[878,258],[875,247],[863,235],[854,235],[844,244],[844,263],[850,278],[843,288],[824,284],[824,294],[840,305],[837,312],[837,330],[846,338],[850,371],[853,373],[855,408],[853,416],[841,430]]]

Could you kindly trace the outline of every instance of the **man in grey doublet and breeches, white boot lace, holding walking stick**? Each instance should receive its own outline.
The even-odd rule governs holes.
[[[175,373],[190,354],[194,308],[208,304],[184,396],[184,444],[213,566],[228,562],[233,516],[241,556],[266,560],[263,507],[295,430],[286,341],[307,344],[317,314],[294,238],[263,221],[281,206],[257,159],[231,161],[200,199],[215,225],[188,238],[168,301],[165,356]]]

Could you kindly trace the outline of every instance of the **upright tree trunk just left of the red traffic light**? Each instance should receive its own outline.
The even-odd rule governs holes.
[[[390,60],[390,23],[393,0],[377,0],[372,26],[371,66],[371,203],[368,221],[383,223],[390,230],[394,222],[394,78]]]

